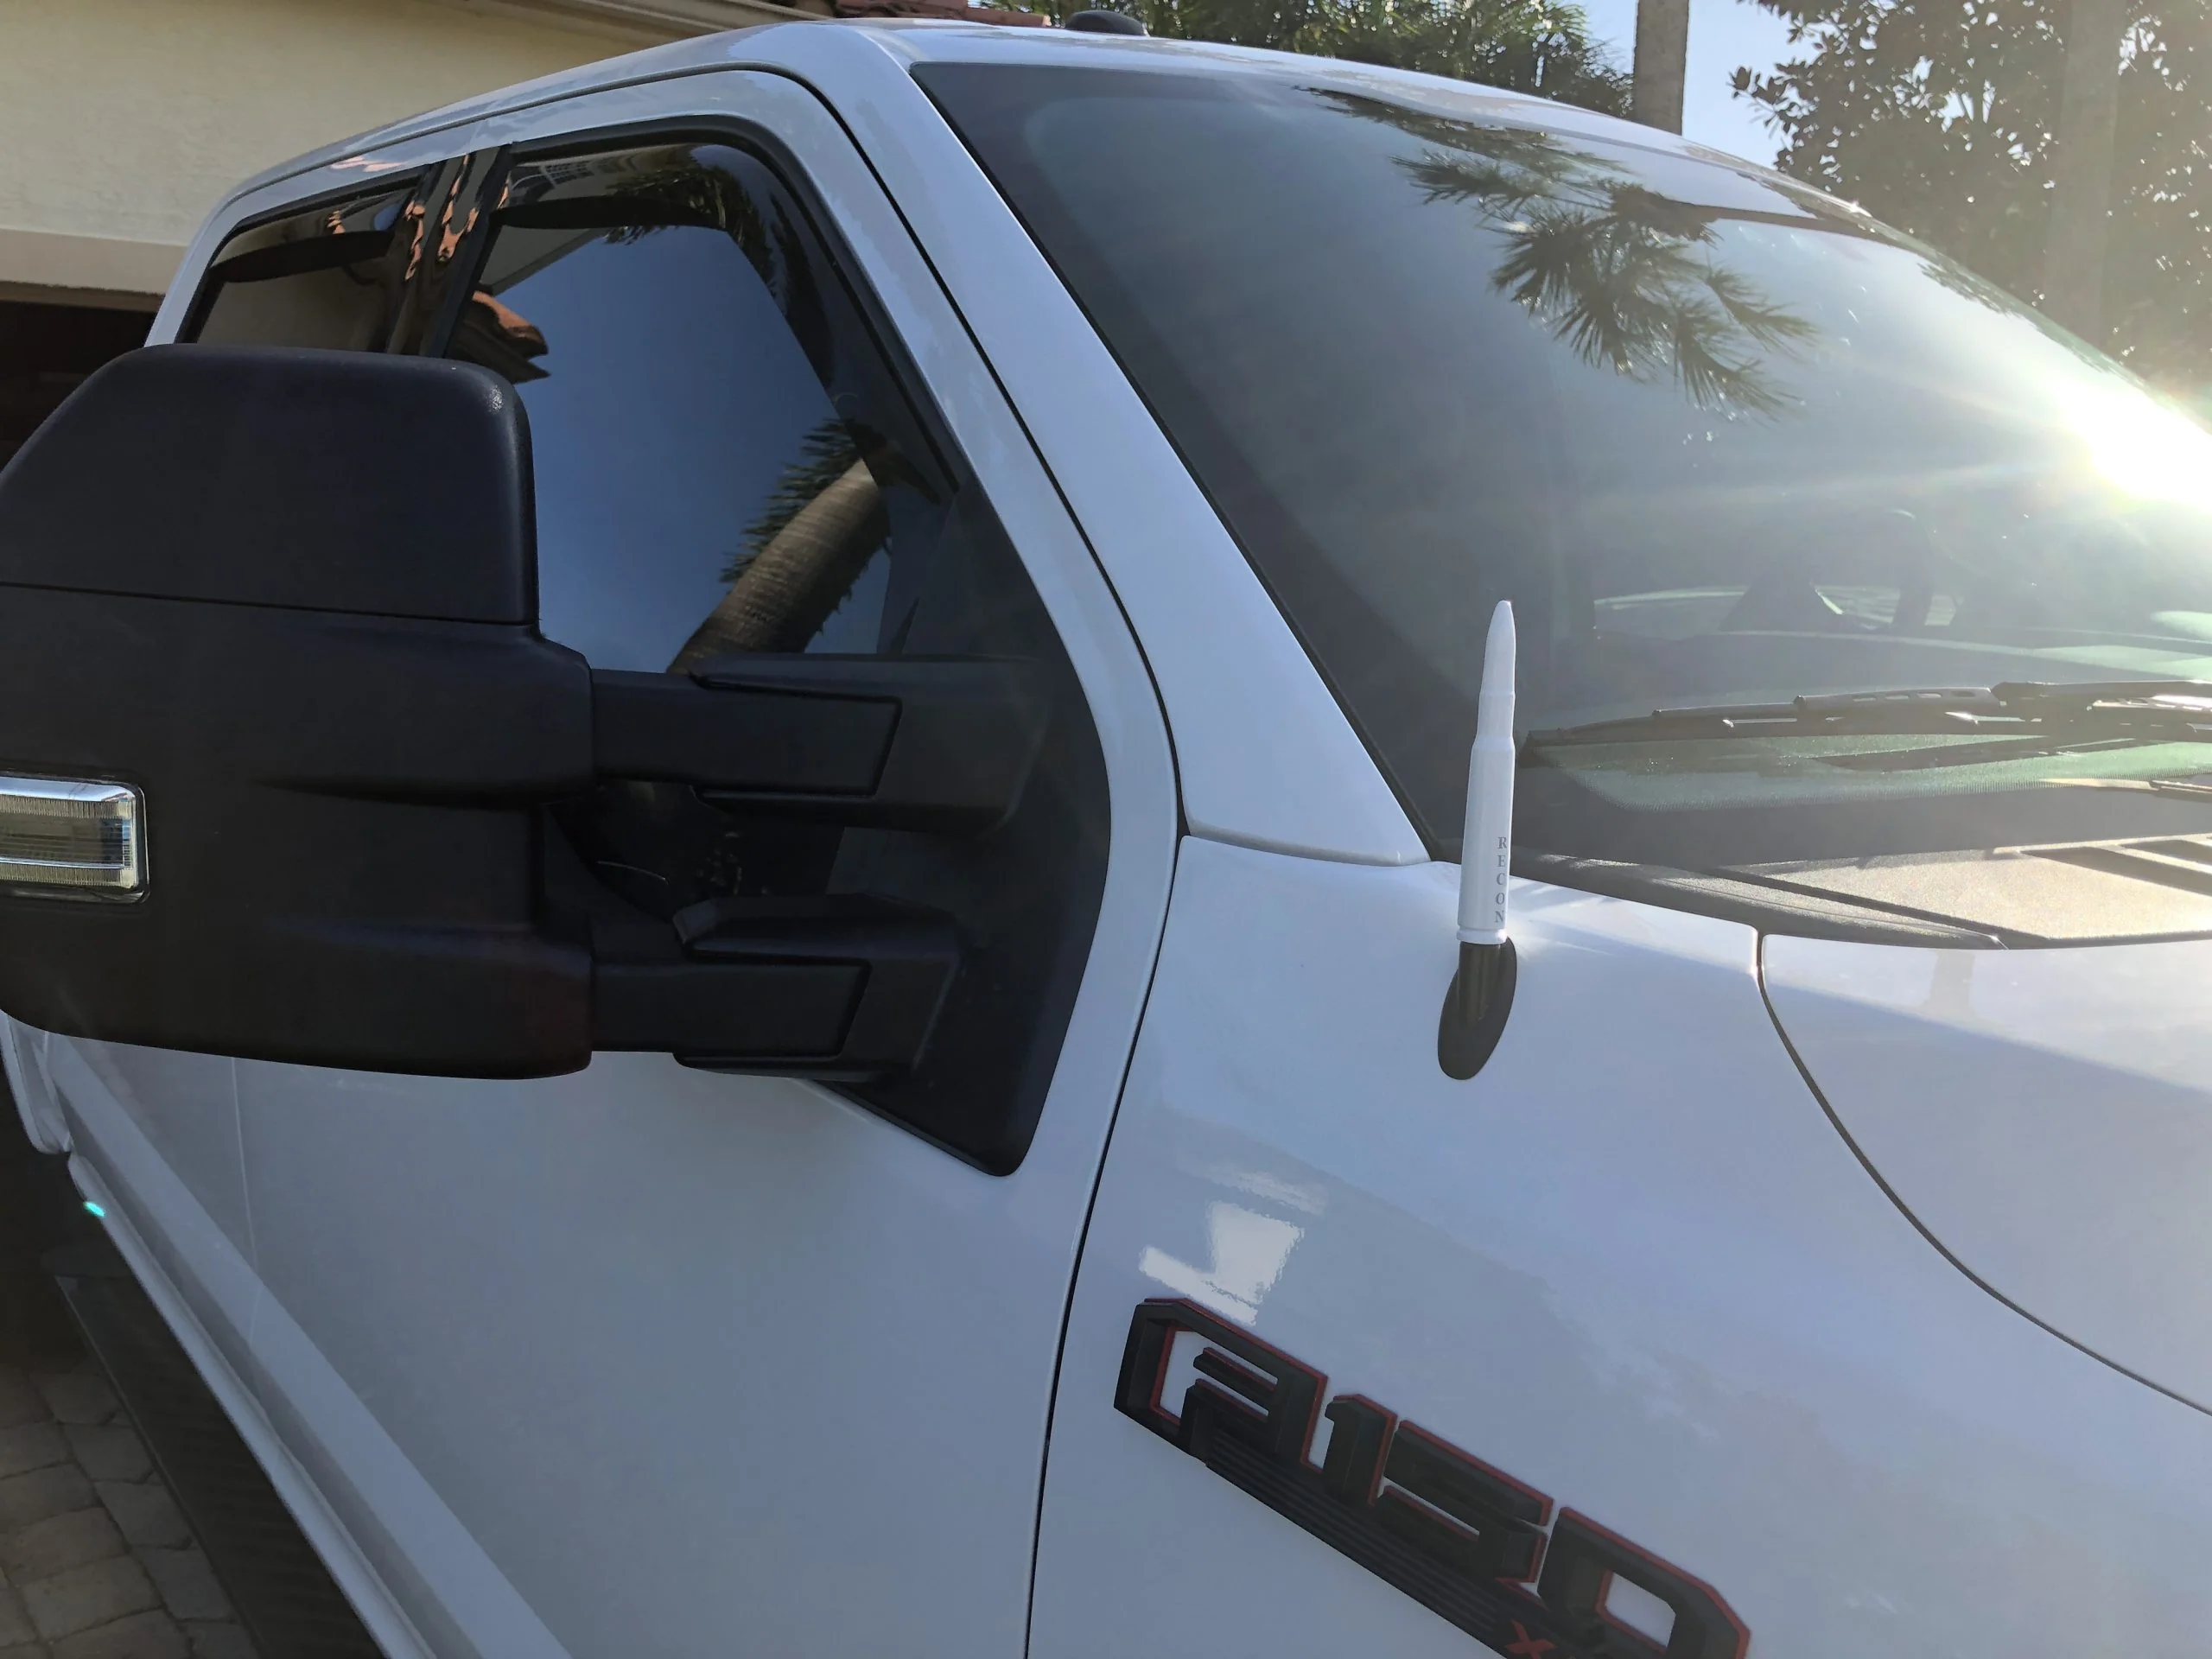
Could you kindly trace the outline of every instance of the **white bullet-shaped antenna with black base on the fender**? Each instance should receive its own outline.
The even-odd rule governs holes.
[[[1475,748],[1467,757],[1467,827],[1460,836],[1460,971],[1444,998],[1436,1053],[1453,1077],[1473,1077],[1498,1046],[1513,1004],[1513,604],[1498,602],[1482,646]]]

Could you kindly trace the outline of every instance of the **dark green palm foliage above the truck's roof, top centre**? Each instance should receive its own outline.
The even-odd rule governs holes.
[[[1110,0],[1048,0],[1062,18]],[[1121,0],[1155,35],[1418,69],[1624,115],[1628,75],[1564,0]]]

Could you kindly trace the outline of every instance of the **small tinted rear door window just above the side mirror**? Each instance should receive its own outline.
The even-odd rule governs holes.
[[[239,230],[179,338],[380,352],[420,254],[416,181]]]

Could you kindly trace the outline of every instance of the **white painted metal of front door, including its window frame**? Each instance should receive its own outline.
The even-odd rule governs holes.
[[[1166,911],[1172,765],[1088,549],[810,93],[692,77],[447,137],[482,150],[717,115],[796,157],[1097,730],[1104,898],[1035,1139],[993,1177],[827,1086],[666,1055],[520,1084],[241,1064],[270,1310],[254,1363],[334,1509],[389,1540],[387,1586],[451,1632],[440,1650],[515,1648],[495,1597],[440,1575],[436,1513],[568,1652],[1011,1659],[1060,1321]],[[524,285],[511,294],[524,316]],[[622,626],[681,646],[664,619]],[[434,1500],[420,1515],[409,1478]]]

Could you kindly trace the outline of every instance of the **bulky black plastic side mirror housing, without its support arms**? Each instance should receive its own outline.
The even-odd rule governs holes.
[[[0,471],[0,765],[124,783],[137,891],[0,896],[66,1035],[449,1075],[591,1057],[533,805],[591,785],[535,635],[529,431],[462,365],[153,347]]]

